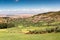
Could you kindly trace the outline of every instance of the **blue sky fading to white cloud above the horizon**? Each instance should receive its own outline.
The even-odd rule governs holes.
[[[0,0],[0,14],[59,11],[60,0]]]

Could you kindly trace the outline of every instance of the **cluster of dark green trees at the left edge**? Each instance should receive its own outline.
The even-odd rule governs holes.
[[[15,27],[13,21],[9,21],[9,17],[3,17],[3,19],[5,20],[5,22],[2,21],[2,23],[0,23],[0,29]]]

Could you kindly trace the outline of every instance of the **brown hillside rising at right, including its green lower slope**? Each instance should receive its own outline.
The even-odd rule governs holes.
[[[28,23],[27,25],[32,24],[32,25],[58,25],[60,24],[60,11],[58,12],[46,12],[46,13],[41,13],[34,15],[32,17],[29,17],[26,19]],[[26,25],[25,24],[25,25]]]

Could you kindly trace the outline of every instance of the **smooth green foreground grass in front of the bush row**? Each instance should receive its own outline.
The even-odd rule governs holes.
[[[0,40],[60,40],[60,33],[23,34],[3,29],[0,31]]]

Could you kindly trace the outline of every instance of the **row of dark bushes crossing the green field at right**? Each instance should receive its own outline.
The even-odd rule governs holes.
[[[35,29],[35,30],[29,30],[26,34],[44,34],[44,33],[52,33],[52,32],[60,32],[59,27],[47,27],[44,29]]]

